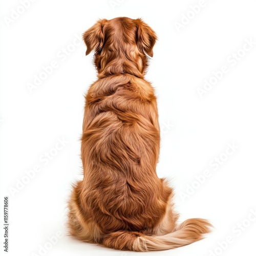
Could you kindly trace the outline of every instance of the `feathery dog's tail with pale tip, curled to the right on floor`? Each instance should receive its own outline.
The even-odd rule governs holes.
[[[204,219],[188,219],[174,232],[163,236],[146,236],[135,231],[120,230],[106,234],[102,244],[109,248],[132,251],[174,249],[203,239],[212,225]]]

